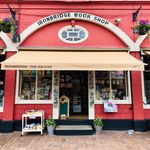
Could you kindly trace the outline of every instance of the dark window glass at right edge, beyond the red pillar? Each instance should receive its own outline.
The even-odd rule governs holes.
[[[145,55],[143,56],[145,65],[145,71],[144,71],[144,89],[145,89],[145,98],[146,98],[146,104],[150,104],[150,56]]]

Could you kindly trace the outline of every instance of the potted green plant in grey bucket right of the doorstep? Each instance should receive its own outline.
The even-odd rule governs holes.
[[[101,134],[102,128],[103,128],[103,121],[102,121],[102,118],[94,119],[94,121],[93,121],[93,126],[94,126],[94,128],[95,128],[95,133],[96,133],[96,134]]]

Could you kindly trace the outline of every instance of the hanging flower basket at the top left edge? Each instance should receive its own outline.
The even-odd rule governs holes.
[[[0,31],[4,33],[13,33],[15,24],[11,18],[0,19]]]

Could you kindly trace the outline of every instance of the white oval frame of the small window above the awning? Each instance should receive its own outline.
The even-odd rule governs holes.
[[[85,37],[83,39],[81,39],[80,41],[68,41],[66,39],[64,39],[62,36],[61,36],[61,33],[67,29],[70,29],[70,28],[80,28],[81,30],[83,30],[85,32]],[[59,31],[58,31],[58,37],[61,41],[65,42],[65,43],[70,43],[70,44],[76,44],[76,43],[82,43],[83,41],[85,41],[87,38],[88,38],[89,34],[88,34],[88,31],[81,27],[81,26],[78,26],[76,25],[75,27],[72,27],[71,25],[69,26],[65,26],[63,28],[61,28]]]

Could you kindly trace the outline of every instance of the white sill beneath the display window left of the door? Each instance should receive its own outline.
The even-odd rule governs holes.
[[[15,104],[53,104],[53,100],[17,100]]]

